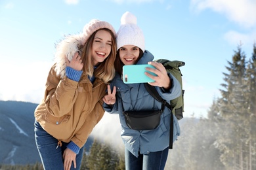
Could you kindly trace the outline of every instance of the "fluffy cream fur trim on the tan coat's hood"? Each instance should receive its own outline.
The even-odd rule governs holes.
[[[56,66],[54,70],[61,78],[66,75],[66,57],[71,60],[75,52],[81,52],[83,44],[85,44],[85,41],[82,34],[67,35],[62,41],[56,43],[56,53],[54,55]]]

